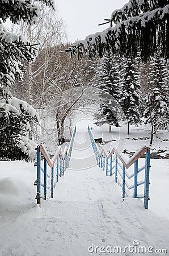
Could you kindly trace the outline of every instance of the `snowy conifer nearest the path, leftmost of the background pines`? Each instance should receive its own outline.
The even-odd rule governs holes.
[[[109,124],[119,126],[117,117],[117,100],[119,97],[120,72],[117,57],[107,53],[100,60],[96,70],[95,84],[99,89],[100,104],[98,112],[95,114],[96,123],[102,125]]]

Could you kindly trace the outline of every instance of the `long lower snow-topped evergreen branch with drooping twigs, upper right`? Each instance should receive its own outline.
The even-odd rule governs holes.
[[[109,27],[103,32],[87,36],[85,40],[79,40],[68,50],[71,56],[77,54],[78,57],[82,57],[85,52],[89,57],[94,57],[96,53],[103,57],[108,50],[120,56],[135,57],[140,51],[141,59],[147,61],[157,49],[156,42],[160,42],[158,47],[161,49],[161,56],[168,59],[168,15],[169,5],[147,11],[122,20],[115,27]]]

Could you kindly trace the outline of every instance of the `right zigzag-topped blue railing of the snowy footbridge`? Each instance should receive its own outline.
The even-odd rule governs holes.
[[[138,151],[136,151],[135,154],[129,158],[129,160],[125,160],[121,152],[119,152],[117,149],[113,148],[108,154],[102,147],[99,147],[94,140],[89,126],[88,134],[91,139],[92,148],[94,150],[98,166],[103,168],[103,171],[105,171],[107,176],[112,176],[115,174],[115,182],[118,183],[120,187],[122,187],[122,197],[124,198],[125,196],[128,196],[128,191],[133,189],[133,197],[143,199],[143,207],[148,209],[150,184],[150,148],[143,146]],[[145,163],[143,166],[138,168],[138,159],[140,159],[143,154],[146,154],[144,161]],[[133,167],[133,171],[130,167]],[[143,173],[143,179],[139,180],[138,176],[141,176],[141,173]],[[131,183],[129,182],[131,180],[133,180],[132,184],[129,184]],[[138,188],[141,185],[144,186],[143,193],[139,194]]]

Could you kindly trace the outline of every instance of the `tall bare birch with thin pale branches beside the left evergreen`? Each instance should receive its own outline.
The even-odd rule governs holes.
[[[21,22],[20,25],[14,25],[12,31],[22,33],[31,43],[39,44],[39,55],[35,63],[26,63],[26,72],[22,82],[16,82],[14,86],[14,94],[18,95],[20,91],[20,98],[27,100],[28,103],[37,108],[37,102],[41,101],[43,97],[37,97],[36,91],[39,90],[43,94],[45,85],[45,72],[50,64],[50,59],[53,56],[54,46],[60,44],[65,40],[65,25],[62,19],[58,19],[56,11],[45,8],[45,5],[40,5],[41,16],[36,25],[25,24]],[[37,77],[41,74],[42,80],[40,86],[37,83]],[[18,90],[21,88],[21,90]],[[33,123],[31,124],[31,131],[29,138],[32,138]]]

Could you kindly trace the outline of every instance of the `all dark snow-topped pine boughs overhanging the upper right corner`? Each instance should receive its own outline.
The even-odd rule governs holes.
[[[124,57],[148,61],[155,51],[169,59],[169,5],[168,0],[129,0],[121,9],[113,11],[111,26],[103,32],[86,36],[69,50],[71,55],[93,57],[112,51]],[[115,26],[114,26],[115,25]],[[113,27],[114,26],[114,27]]]

